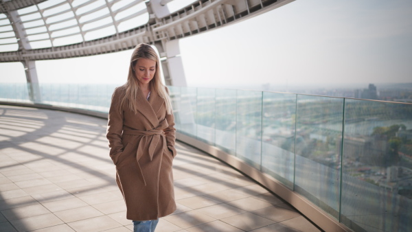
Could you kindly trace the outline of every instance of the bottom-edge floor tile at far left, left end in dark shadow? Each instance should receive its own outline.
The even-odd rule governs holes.
[[[43,229],[45,227],[63,224],[64,222],[58,219],[53,213],[47,213],[30,218],[12,220],[10,223],[17,229],[17,231],[33,231],[35,229]]]

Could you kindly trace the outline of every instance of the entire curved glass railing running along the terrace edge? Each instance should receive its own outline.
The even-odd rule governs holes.
[[[29,101],[23,87],[0,84],[0,101]],[[107,112],[114,87],[39,85],[39,103]],[[412,231],[412,104],[169,89],[182,134],[273,176],[354,231]]]

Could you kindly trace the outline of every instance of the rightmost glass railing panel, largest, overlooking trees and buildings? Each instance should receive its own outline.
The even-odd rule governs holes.
[[[345,101],[341,222],[411,231],[412,104]]]

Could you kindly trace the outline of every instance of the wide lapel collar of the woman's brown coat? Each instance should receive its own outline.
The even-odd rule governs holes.
[[[152,128],[157,127],[159,119],[157,119],[157,112],[160,110],[164,100],[157,95],[155,89],[150,85],[150,97],[146,100],[141,89],[137,89],[137,111],[139,111],[152,124]],[[152,129],[150,128],[150,129]]]

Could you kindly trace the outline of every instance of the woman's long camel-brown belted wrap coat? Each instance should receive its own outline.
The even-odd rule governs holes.
[[[116,181],[126,202],[129,220],[155,220],[176,210],[172,160],[175,128],[166,114],[165,101],[151,89],[146,100],[139,89],[138,113],[127,104],[119,111],[125,94],[115,89],[108,113],[107,139],[116,165]]]

